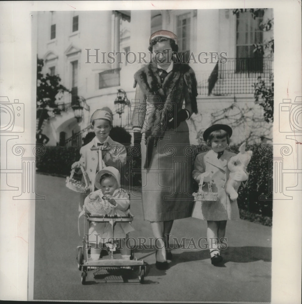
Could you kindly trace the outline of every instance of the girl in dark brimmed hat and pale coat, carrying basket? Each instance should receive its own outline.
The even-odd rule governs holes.
[[[229,176],[227,162],[236,155],[225,150],[231,135],[232,128],[228,125],[210,126],[204,131],[203,138],[211,150],[198,154],[194,163],[193,178],[198,183],[202,183],[202,190],[209,192],[210,182],[212,192],[218,192],[217,201],[202,201],[201,210],[197,210],[198,218],[208,222],[207,238],[213,265],[222,261],[220,248],[224,248],[222,245],[225,245],[222,238],[225,236],[227,220],[239,219],[237,201],[230,201],[224,188]]]

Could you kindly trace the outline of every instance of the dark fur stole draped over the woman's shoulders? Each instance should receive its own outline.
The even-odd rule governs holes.
[[[185,95],[188,94],[192,111],[197,114],[197,81],[194,71],[188,64],[174,63],[173,70],[168,73],[161,85],[157,65],[151,63],[134,74],[133,87],[135,88],[137,84],[147,97],[147,102],[154,104],[154,111],[150,111],[145,117],[147,130],[144,128],[144,131],[148,156],[145,167],[147,168],[152,150],[165,133],[168,119],[175,118],[177,111],[181,109]]]

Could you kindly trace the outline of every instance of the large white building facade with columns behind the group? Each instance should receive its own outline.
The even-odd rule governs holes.
[[[255,129],[251,117],[263,118],[261,107],[254,103],[253,84],[259,76],[268,83],[273,62],[268,54],[257,57],[253,44],[272,39],[272,29],[259,29],[272,14],[272,9],[266,9],[254,19],[250,12],[236,16],[232,9],[38,12],[37,55],[44,60],[43,73],[59,74],[62,85],[72,92],[58,100],[65,111],[43,124],[48,145],[72,144],[66,140],[76,134],[85,136],[96,109],[108,106],[115,112],[118,89],[130,101],[135,97],[133,75],[144,60],[149,62],[149,37],[159,29],[176,33],[179,56],[186,52],[196,74],[199,114],[189,120],[191,143],[197,144],[199,132],[211,123],[230,123],[219,112],[234,102],[250,116],[234,130],[233,141],[241,142]],[[79,121],[71,108],[75,96],[85,100]],[[129,109],[126,106],[121,118],[115,114],[115,125],[129,128]],[[238,109],[235,106],[227,113],[232,116]],[[270,135],[267,123],[257,119],[260,141],[260,136]]]

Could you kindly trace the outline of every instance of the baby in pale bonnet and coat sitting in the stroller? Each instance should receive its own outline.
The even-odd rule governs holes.
[[[125,190],[119,188],[119,171],[114,167],[105,167],[95,175],[95,187],[99,190],[91,192],[84,201],[83,209],[91,216],[129,216],[130,200]],[[104,244],[110,246],[112,237],[118,240],[122,259],[130,260],[131,250],[127,248],[128,233],[133,231],[129,222],[116,222],[114,235],[109,222],[90,222],[89,245],[91,247],[91,261],[100,258],[101,248]]]

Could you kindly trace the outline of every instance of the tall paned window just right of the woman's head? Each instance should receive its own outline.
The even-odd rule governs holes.
[[[178,37],[178,54],[179,58],[184,53],[187,61],[190,57],[190,29],[191,29],[191,13],[177,16],[176,35]]]

